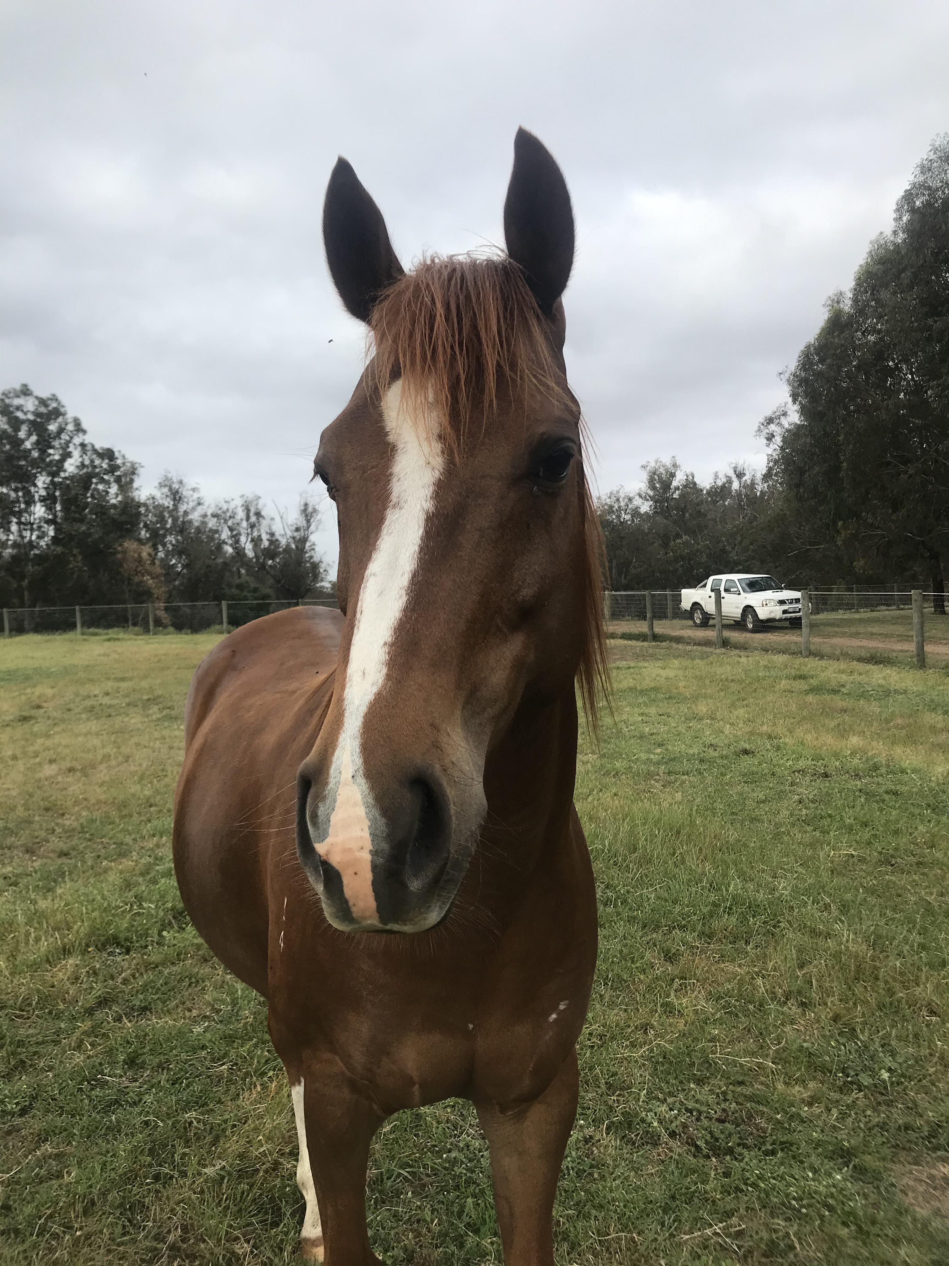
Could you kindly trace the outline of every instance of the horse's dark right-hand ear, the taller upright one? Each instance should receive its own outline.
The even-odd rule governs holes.
[[[573,210],[567,181],[538,138],[518,128],[504,204],[507,254],[524,268],[540,310],[553,316],[573,267]]]

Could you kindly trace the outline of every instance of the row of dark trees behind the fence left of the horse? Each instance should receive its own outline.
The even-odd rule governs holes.
[[[296,600],[332,591],[306,496],[292,515],[257,495],[209,504],[91,443],[56,395],[0,392],[0,605]]]

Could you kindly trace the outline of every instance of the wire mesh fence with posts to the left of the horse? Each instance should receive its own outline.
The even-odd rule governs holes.
[[[206,633],[232,629],[291,606],[338,608],[335,598],[304,598],[299,601],[224,603],[121,603],[81,606],[14,606],[4,609],[4,634],[94,633],[125,629],[154,634],[162,632]]]

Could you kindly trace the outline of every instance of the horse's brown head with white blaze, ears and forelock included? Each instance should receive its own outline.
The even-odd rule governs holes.
[[[506,256],[405,273],[342,158],[326,191],[330,272],[375,358],[315,462],[338,509],[347,623],[300,770],[297,851],[347,931],[444,917],[485,820],[491,751],[514,724],[529,744],[550,709],[576,727],[574,677],[592,700],[602,666],[597,527],[563,362],[573,215],[524,130],[504,227]]]

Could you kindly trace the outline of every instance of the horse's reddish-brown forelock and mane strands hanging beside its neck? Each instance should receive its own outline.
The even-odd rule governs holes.
[[[448,420],[443,439],[458,454],[475,417],[493,413],[499,392],[567,399],[547,322],[519,265],[505,254],[430,256],[380,298],[372,313],[376,382],[402,381],[411,415]],[[581,438],[586,441],[581,423]],[[585,443],[586,447],[586,443]],[[585,549],[583,649],[577,680],[593,732],[609,698],[604,627],[604,542],[581,465]]]

